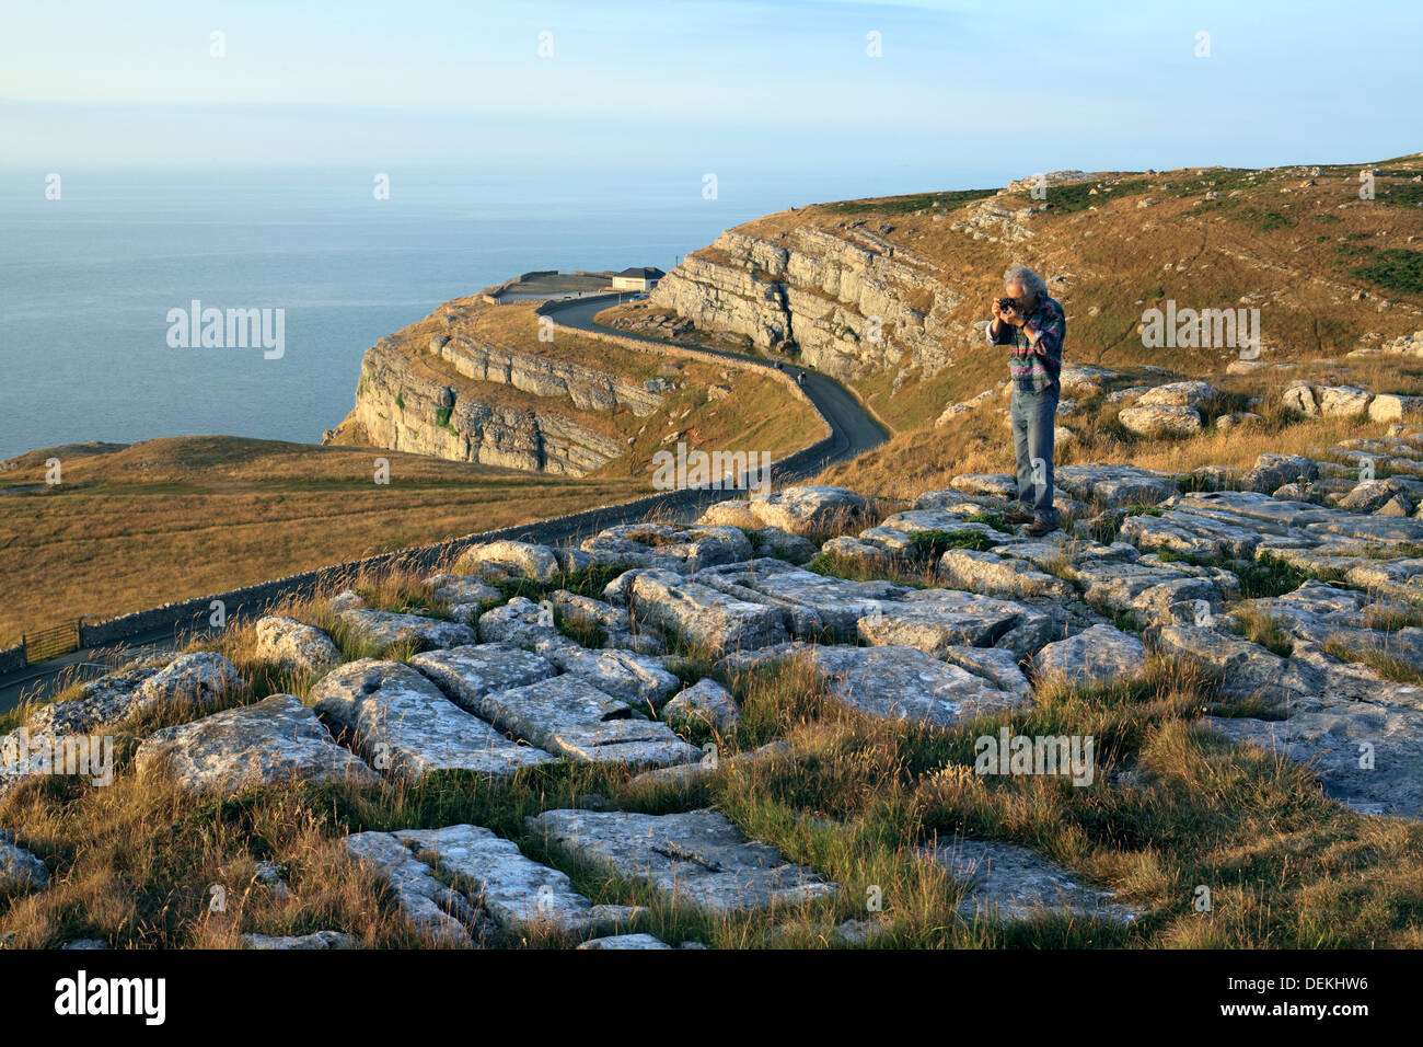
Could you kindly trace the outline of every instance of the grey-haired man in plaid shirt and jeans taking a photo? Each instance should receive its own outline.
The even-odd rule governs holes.
[[[1009,419],[1013,423],[1013,457],[1017,460],[1017,500],[1025,509],[1007,514],[1009,523],[1026,523],[1042,537],[1057,530],[1053,507],[1053,429],[1062,392],[1063,338],[1067,318],[1047,293],[1043,278],[1026,265],[1003,275],[1003,298],[992,303],[993,321],[985,329],[989,345],[1012,346],[1007,370],[1013,382]]]

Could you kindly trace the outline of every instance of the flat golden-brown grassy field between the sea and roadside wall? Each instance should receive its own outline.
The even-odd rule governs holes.
[[[44,462],[63,483],[44,483]],[[374,483],[374,460],[390,483]],[[233,436],[70,444],[0,463],[0,645],[407,546],[647,493],[397,452]]]

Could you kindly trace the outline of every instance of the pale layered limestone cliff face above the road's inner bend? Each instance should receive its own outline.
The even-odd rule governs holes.
[[[939,266],[864,221],[840,235],[793,228],[768,236],[737,229],[667,274],[650,299],[697,328],[746,335],[760,349],[798,349],[837,377],[949,362],[969,329],[951,319],[963,301]]]

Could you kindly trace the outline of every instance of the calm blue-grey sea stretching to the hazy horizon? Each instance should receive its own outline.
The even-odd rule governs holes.
[[[791,205],[962,188],[892,170],[710,189],[684,171],[380,174],[0,168],[0,459],[201,433],[317,443],[353,406],[366,349],[451,298],[531,269],[670,271]],[[280,355],[185,343],[174,318],[194,302],[269,323],[280,309]]]

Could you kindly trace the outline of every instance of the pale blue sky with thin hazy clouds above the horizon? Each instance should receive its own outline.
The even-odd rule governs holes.
[[[948,187],[1380,160],[1423,148],[1420,43],[1413,0],[6,0],[0,164],[899,167]]]

